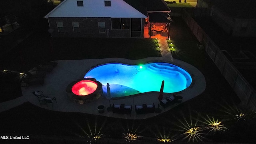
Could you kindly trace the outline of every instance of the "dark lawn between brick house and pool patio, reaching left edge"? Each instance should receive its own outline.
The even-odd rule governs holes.
[[[34,33],[0,58],[0,68],[30,70],[53,60],[127,58],[160,56],[153,39],[134,38],[50,38],[47,32]]]

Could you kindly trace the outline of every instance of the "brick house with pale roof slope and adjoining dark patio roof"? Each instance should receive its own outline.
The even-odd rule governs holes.
[[[143,38],[149,22],[170,25],[164,0],[64,0],[44,18],[54,37]]]

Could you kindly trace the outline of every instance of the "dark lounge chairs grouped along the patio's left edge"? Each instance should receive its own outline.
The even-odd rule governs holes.
[[[44,62],[43,64],[26,71],[24,75],[22,75],[21,86],[27,87],[36,84],[43,85],[46,72],[51,72],[57,64],[57,62]]]

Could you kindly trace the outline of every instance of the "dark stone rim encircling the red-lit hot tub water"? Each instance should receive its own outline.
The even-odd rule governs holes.
[[[74,86],[74,84],[76,84],[82,80],[89,80],[89,81],[95,82],[98,87],[91,94],[83,95],[83,96],[76,95],[72,92],[72,87]],[[71,82],[70,84],[68,84],[68,86],[66,87],[66,94],[67,94],[68,98],[72,102],[75,102],[77,104],[86,104],[86,103],[92,102],[94,100],[97,100],[98,98],[100,98],[100,96],[102,96],[102,93],[103,93],[102,84],[94,78],[82,78],[79,80],[75,80],[75,81]]]

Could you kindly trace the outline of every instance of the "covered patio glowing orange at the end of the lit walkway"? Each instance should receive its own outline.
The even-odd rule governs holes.
[[[144,38],[169,38],[172,19],[168,13],[148,13],[144,26]]]

